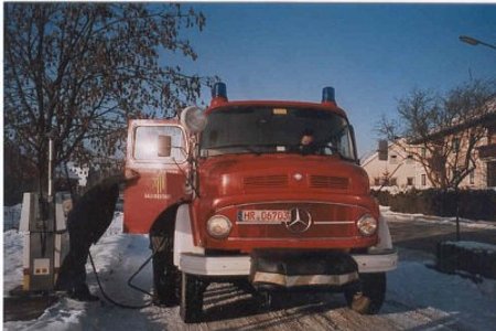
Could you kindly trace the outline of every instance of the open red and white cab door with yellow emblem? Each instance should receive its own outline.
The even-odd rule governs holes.
[[[140,177],[125,190],[123,232],[149,233],[164,210],[187,197],[187,150],[177,120],[129,121],[126,169]]]

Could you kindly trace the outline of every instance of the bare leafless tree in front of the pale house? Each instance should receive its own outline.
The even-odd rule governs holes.
[[[412,90],[379,132],[422,164],[435,188],[456,189],[476,168],[476,147],[496,121],[496,84],[472,81],[444,95]]]

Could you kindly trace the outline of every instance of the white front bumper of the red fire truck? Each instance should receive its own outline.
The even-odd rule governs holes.
[[[366,273],[386,273],[396,269],[398,265],[398,252],[396,249],[371,250],[369,254],[351,255],[356,263],[359,274]],[[197,254],[183,253],[180,256],[180,270],[198,276],[250,276],[252,259],[249,255],[238,256],[204,256]],[[273,271],[273,270],[271,270]],[[268,280],[268,276],[274,279],[274,284],[281,286],[294,286],[308,284],[346,284],[353,281],[355,276],[353,271],[344,269],[334,275],[312,274],[312,275],[283,275],[280,273],[261,271],[258,280]],[[267,275],[272,274],[272,275]],[[296,274],[296,273],[293,273]],[[301,273],[300,273],[301,274]],[[306,273],[308,274],[308,273]],[[280,276],[274,276],[280,275]],[[294,278],[293,276],[299,276]],[[254,280],[256,276],[254,275]]]

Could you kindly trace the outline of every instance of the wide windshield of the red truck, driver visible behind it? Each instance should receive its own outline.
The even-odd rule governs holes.
[[[233,107],[212,113],[200,148],[202,157],[301,153],[355,159],[347,120],[315,108]]]

